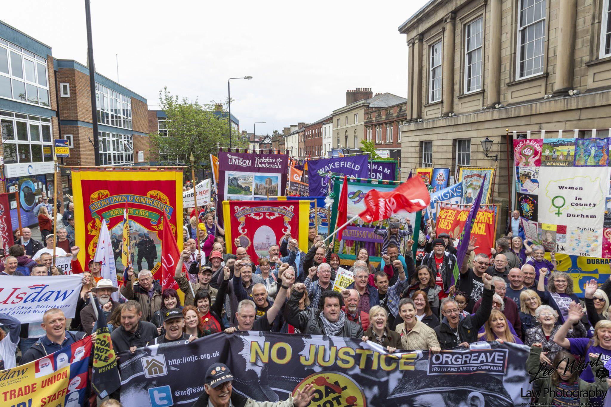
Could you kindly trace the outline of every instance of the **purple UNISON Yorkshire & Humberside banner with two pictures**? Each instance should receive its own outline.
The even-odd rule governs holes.
[[[218,201],[257,201],[283,196],[287,173],[287,154],[220,151]]]

